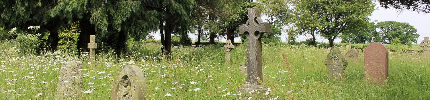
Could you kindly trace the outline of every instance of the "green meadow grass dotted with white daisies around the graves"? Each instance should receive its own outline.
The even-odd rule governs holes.
[[[323,63],[329,48],[263,45],[263,83],[271,91],[267,95],[247,95],[237,89],[246,82],[245,73],[239,70],[240,64],[246,64],[246,44],[235,45],[231,66],[227,67],[222,45],[172,48],[172,59],[165,59],[160,55],[160,45],[144,44],[133,46],[130,49],[133,52],[119,57],[112,50],[98,50],[95,61],[88,60],[86,52],[22,54],[9,41],[1,41],[0,45],[0,79],[4,80],[0,82],[0,100],[52,100],[59,68],[71,60],[83,63],[82,91],[95,89],[89,94],[82,93],[79,100],[109,100],[116,75],[129,64],[140,67],[144,73],[148,100],[237,100],[238,97],[260,100],[278,96],[280,100],[430,99],[429,57],[403,52],[390,52],[387,84],[372,85],[363,80],[362,50],[358,50],[362,57],[359,61],[348,60],[344,80],[333,81],[327,78]],[[341,48],[341,51],[344,54],[347,50]],[[40,93],[43,94],[37,96]]]

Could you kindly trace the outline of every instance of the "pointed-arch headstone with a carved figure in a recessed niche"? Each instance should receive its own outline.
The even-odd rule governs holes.
[[[127,65],[121,70],[111,91],[111,100],[145,100],[146,83],[142,70]]]

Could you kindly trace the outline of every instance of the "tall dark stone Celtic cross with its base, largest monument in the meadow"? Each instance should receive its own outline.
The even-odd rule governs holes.
[[[248,59],[246,67],[246,82],[239,90],[247,93],[248,91],[265,91],[266,86],[261,85],[263,79],[263,69],[261,61],[261,36],[263,33],[270,33],[270,23],[263,22],[260,8],[248,9],[248,21],[246,24],[239,25],[239,33],[245,34],[248,38]],[[260,81],[260,82],[259,82]]]

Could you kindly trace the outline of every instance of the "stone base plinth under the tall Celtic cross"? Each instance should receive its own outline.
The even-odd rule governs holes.
[[[249,84],[242,85],[239,87],[239,91],[242,94],[249,94],[249,91],[252,91],[252,90],[255,91],[254,94],[257,94],[258,92],[260,92],[260,94],[264,94],[264,92],[267,91],[267,87],[264,85],[249,85]]]

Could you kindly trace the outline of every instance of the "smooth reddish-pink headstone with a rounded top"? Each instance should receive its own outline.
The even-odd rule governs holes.
[[[388,51],[380,42],[370,43],[364,50],[364,80],[382,84],[388,79]]]

